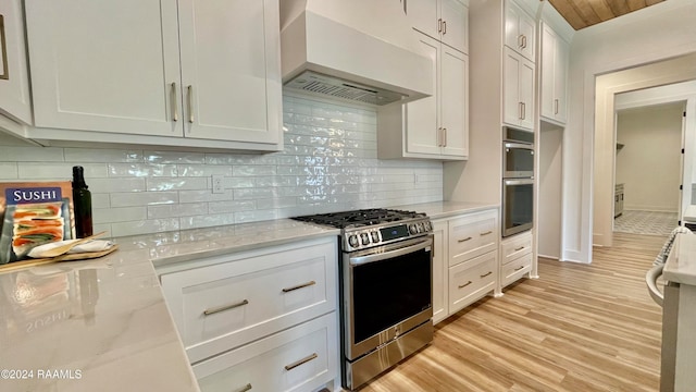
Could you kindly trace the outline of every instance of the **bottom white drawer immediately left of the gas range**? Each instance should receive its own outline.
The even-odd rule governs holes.
[[[336,375],[332,313],[192,366],[202,392],[311,391]]]

